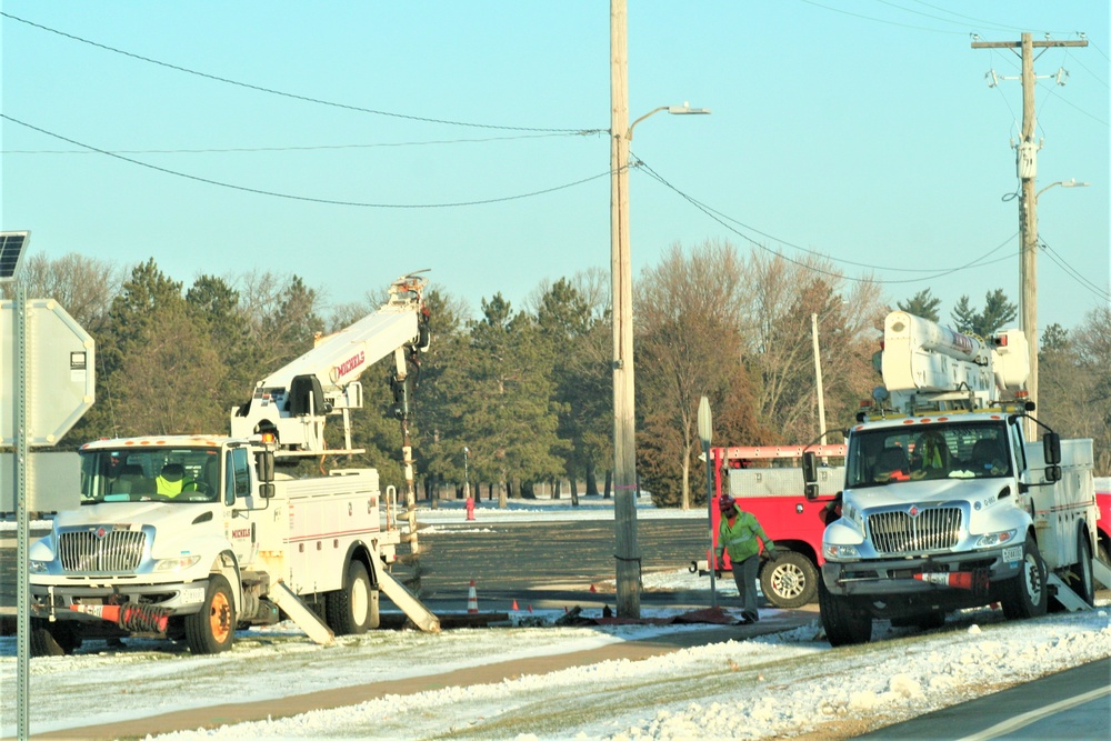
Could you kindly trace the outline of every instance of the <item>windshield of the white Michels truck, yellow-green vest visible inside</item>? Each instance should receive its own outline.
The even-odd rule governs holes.
[[[218,448],[132,448],[81,453],[81,503],[211,502],[219,497]]]

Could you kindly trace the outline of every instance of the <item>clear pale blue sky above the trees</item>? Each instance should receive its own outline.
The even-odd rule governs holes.
[[[674,188],[632,173],[637,273],[674,242],[752,239],[850,276],[872,266],[892,304],[931,288],[947,318],[964,293],[1018,300],[1018,201],[1003,198],[1021,86],[984,73],[1018,76],[1019,58],[970,34],[1083,32],[1089,47],[1035,64],[1069,72],[1039,81],[1038,187],[1092,183],[1040,200],[1039,324],[1107,303],[1107,0],[629,6],[631,119],[712,110],[637,127],[632,151]],[[187,286],[297,273],[332,303],[431,268],[476,310],[609,270],[604,0],[0,7],[50,29],[0,18],[0,228],[30,229],[34,252],[153,257]],[[496,199],[510,200],[446,206]]]

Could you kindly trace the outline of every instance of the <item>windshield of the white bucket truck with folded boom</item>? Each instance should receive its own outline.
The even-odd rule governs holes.
[[[1007,477],[1014,465],[1009,451],[1003,422],[865,430],[849,442],[845,485]]]

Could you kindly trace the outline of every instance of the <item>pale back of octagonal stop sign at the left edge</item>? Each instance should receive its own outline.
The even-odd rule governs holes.
[[[16,331],[12,301],[0,301],[0,443],[14,445]],[[53,445],[96,399],[92,337],[53,299],[29,299],[27,324],[28,444]]]

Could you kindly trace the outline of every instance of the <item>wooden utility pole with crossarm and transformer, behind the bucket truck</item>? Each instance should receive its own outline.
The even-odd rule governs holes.
[[[1033,36],[1023,33],[1021,41],[973,41],[973,49],[1021,49],[1022,57],[1022,139],[1015,144],[1015,163],[1021,191],[1019,194],[1019,308],[1021,312],[1020,327],[1027,337],[1030,377],[1027,380],[1027,392],[1030,401],[1038,403],[1038,194],[1034,191],[1034,178],[1038,176],[1038,150],[1041,144],[1034,141],[1034,86],[1038,77],[1034,74],[1034,49],[1051,47],[1087,47],[1088,40],[1079,41],[1034,41]],[[1065,72],[1059,70],[1055,76],[1058,84],[1064,84]],[[1014,79],[998,77],[994,71],[988,73],[988,84],[994,87],[997,80]],[[1037,430],[1027,423],[1027,440],[1037,439]]]

